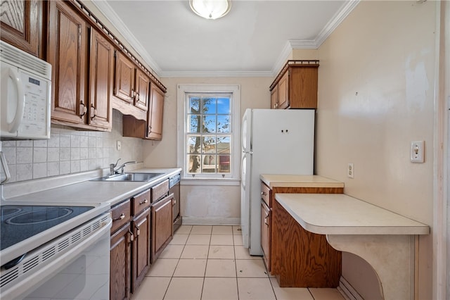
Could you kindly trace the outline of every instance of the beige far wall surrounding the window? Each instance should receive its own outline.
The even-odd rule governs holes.
[[[174,167],[176,165],[176,86],[179,84],[240,85],[240,114],[246,108],[269,108],[269,77],[166,77],[162,141],[145,141],[144,165]],[[182,120],[181,120],[182,121]],[[181,167],[181,166],[180,166]],[[238,224],[240,220],[240,186],[181,184],[181,215],[184,223]]]

